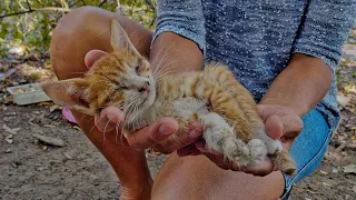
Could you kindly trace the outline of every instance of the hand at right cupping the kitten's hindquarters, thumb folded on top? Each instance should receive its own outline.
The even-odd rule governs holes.
[[[284,148],[288,150],[291,147],[294,139],[301,131],[301,119],[288,107],[259,104],[257,108],[258,113],[265,123],[266,133],[273,139],[280,139]],[[224,159],[222,153],[208,149],[204,140],[199,140],[194,144],[179,149],[177,153],[181,157],[205,154],[221,169],[244,171],[256,176],[266,176],[274,170],[274,166],[269,159],[263,161],[258,168],[238,167],[236,163]]]

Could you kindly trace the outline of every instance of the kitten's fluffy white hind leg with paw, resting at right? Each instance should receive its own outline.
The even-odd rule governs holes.
[[[200,114],[199,119],[205,127],[204,139],[208,148],[224,153],[237,166],[256,167],[266,158],[267,150],[261,140],[254,139],[246,144],[219,114],[209,112]]]

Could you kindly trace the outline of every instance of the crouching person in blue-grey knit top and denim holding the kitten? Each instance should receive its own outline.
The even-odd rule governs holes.
[[[356,2],[157,3],[155,32],[93,7],[65,16],[52,33],[50,49],[57,77],[79,77],[112,51],[110,21],[116,18],[152,68],[184,72],[201,70],[204,61],[229,66],[258,102],[267,134],[283,141],[298,169],[296,176],[287,177],[273,171],[268,161],[258,169],[229,166],[196,142],[202,134],[199,122],[180,133],[179,142],[160,147],[159,141],[177,131],[177,122],[170,118],[130,133],[122,146],[116,142],[113,129],[125,118],[118,108],[106,108],[93,119],[73,111],[86,136],[117,173],[121,199],[287,199],[293,184],[317,168],[337,128],[335,68],[355,19]],[[103,143],[105,127],[110,128]],[[152,146],[170,153],[155,181],[145,157],[145,149]]]

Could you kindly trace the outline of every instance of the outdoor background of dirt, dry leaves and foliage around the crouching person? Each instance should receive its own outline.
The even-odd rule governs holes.
[[[0,199],[119,197],[112,169],[80,128],[62,118],[62,108],[40,94],[27,96],[40,92],[36,83],[56,79],[51,31],[82,6],[120,12],[155,29],[156,0],[0,0]],[[356,199],[356,28],[343,52],[337,69],[342,123],[320,167],[294,187],[291,199]],[[154,177],[165,158],[147,152]]]

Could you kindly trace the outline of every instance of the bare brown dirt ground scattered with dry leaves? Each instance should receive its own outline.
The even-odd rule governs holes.
[[[298,182],[290,199],[356,199],[356,30],[337,70],[343,120],[319,168]],[[16,106],[7,86],[51,77],[36,54],[0,59],[0,199],[118,199],[120,183],[103,157],[79,128],[52,103]],[[36,134],[61,139],[63,147]],[[164,156],[147,153],[155,176]]]

